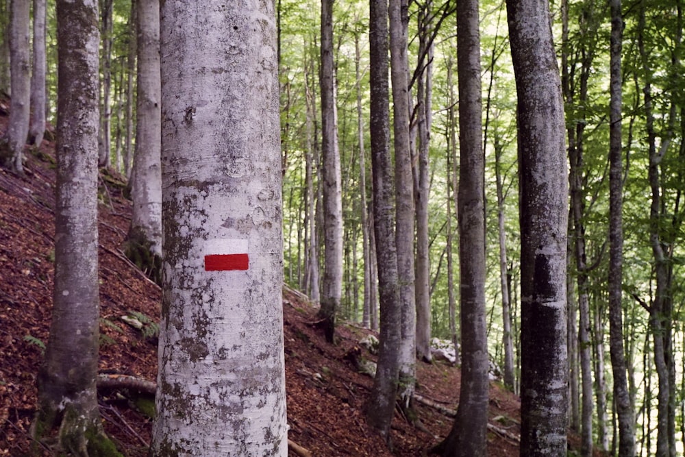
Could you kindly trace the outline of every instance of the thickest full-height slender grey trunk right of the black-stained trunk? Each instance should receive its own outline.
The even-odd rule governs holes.
[[[609,352],[614,378],[614,404],[619,417],[619,456],[635,455],[635,412],[627,382],[623,349],[623,89],[621,0],[611,0],[609,102]]]

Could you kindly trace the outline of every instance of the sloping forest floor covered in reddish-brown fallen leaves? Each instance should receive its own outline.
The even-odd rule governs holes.
[[[8,103],[0,100],[0,136]],[[27,149],[25,177],[0,169],[0,456],[29,453],[29,425],[36,408],[36,373],[49,336],[54,262],[55,155],[53,134],[40,149]],[[131,202],[120,176],[101,171],[99,182],[99,277],[101,373],[132,375],[154,382],[160,315],[160,288],[125,258]],[[460,371],[445,362],[419,362],[416,393],[434,406],[416,402],[420,425],[396,410],[393,452],[369,430],[364,406],[372,380],[346,357],[369,330],[342,323],[337,344],[325,343],[316,326],[316,307],[284,288],[284,340],[288,437],[312,456],[424,456],[449,432]],[[136,317],[142,330],[121,317]],[[150,320],[147,321],[146,317]],[[366,349],[362,356],[375,360]],[[99,390],[105,430],[127,456],[146,456],[151,419],[127,391]],[[488,454],[519,454],[519,398],[497,382],[490,385]],[[573,440],[575,441],[575,439]],[[41,445],[38,449],[41,449]],[[43,454],[51,455],[42,447]],[[290,451],[290,456],[296,456]]]

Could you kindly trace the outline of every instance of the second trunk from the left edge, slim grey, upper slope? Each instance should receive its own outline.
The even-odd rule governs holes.
[[[45,134],[45,0],[34,0],[33,61],[29,143],[40,147]]]

